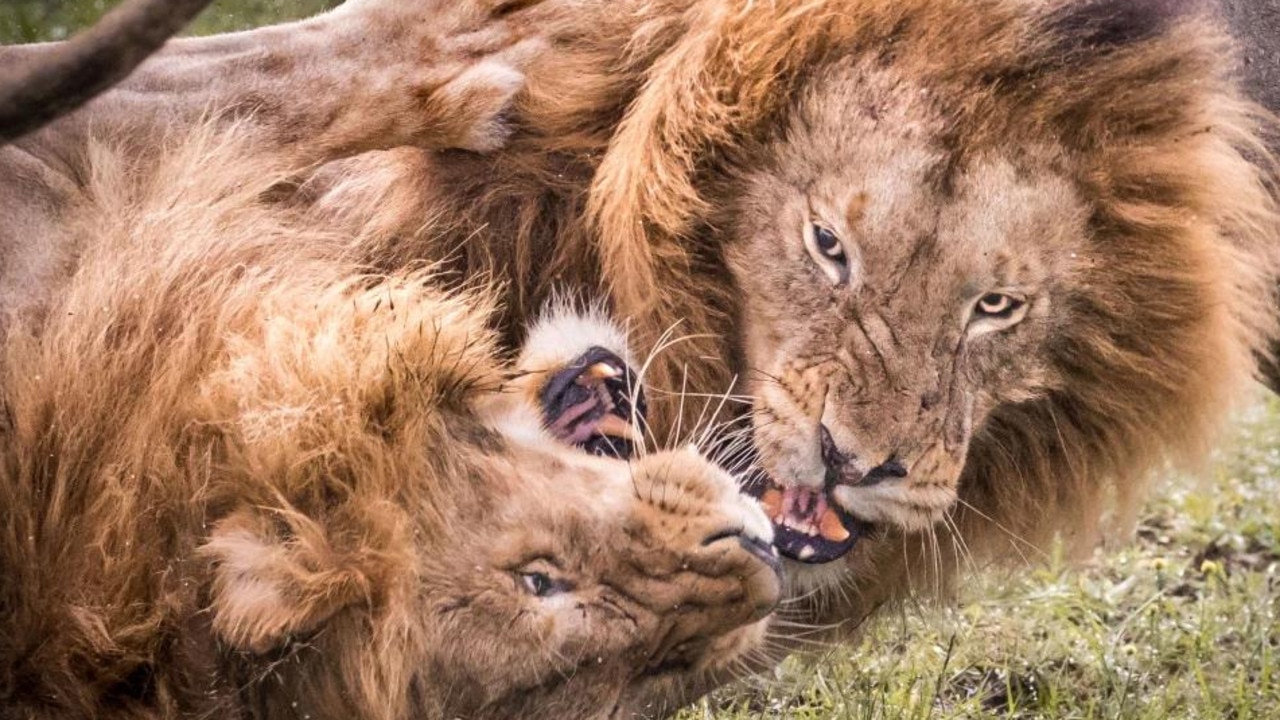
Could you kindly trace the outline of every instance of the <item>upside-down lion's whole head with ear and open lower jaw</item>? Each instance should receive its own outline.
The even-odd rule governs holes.
[[[253,685],[262,702],[609,717],[631,688],[762,647],[782,587],[759,503],[694,448],[588,450],[625,425],[604,419],[630,372],[625,348],[602,347],[621,332],[598,316],[539,324],[526,350],[544,351],[499,365],[471,299],[388,286],[265,305],[271,332],[234,342],[201,392],[202,418],[244,438],[243,477],[212,503],[234,509],[200,550],[209,618],[223,646],[273,666]],[[394,315],[379,311],[388,296]],[[321,404],[319,386],[339,389]],[[282,653],[300,660],[276,671]]]

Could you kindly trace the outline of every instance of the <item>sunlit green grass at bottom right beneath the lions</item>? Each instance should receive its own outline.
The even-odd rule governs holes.
[[[1233,436],[1157,489],[1132,543],[972,578],[681,720],[1280,717],[1280,402]]]

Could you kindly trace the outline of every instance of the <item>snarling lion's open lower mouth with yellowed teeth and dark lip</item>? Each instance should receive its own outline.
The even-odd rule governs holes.
[[[810,565],[840,560],[870,525],[854,519],[831,497],[831,488],[783,487],[758,477],[746,492],[760,501],[773,523],[778,553]]]

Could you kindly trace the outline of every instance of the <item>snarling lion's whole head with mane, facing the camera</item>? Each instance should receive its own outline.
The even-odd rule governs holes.
[[[860,547],[828,575],[867,607],[909,589],[893,564],[952,565],[916,553],[1087,538],[1106,493],[1206,447],[1276,332],[1280,217],[1194,4],[684,22],[590,213],[620,310],[701,331],[655,382],[739,375],[787,555]]]

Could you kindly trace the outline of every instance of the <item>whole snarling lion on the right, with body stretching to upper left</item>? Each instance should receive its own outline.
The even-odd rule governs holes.
[[[636,347],[667,346],[652,427],[723,420],[788,612],[833,637],[970,560],[1088,547],[1103,510],[1211,447],[1280,334],[1271,120],[1196,3],[398,6],[440,22],[366,0],[184,40],[19,147],[257,110],[279,151],[329,160],[283,204],[375,224],[357,251],[384,272],[508,283],[504,346],[553,293],[605,293]],[[451,77],[521,78],[500,142],[403,122],[404,96],[444,97],[406,58],[430,70],[412,50],[460,14],[506,41]]]

